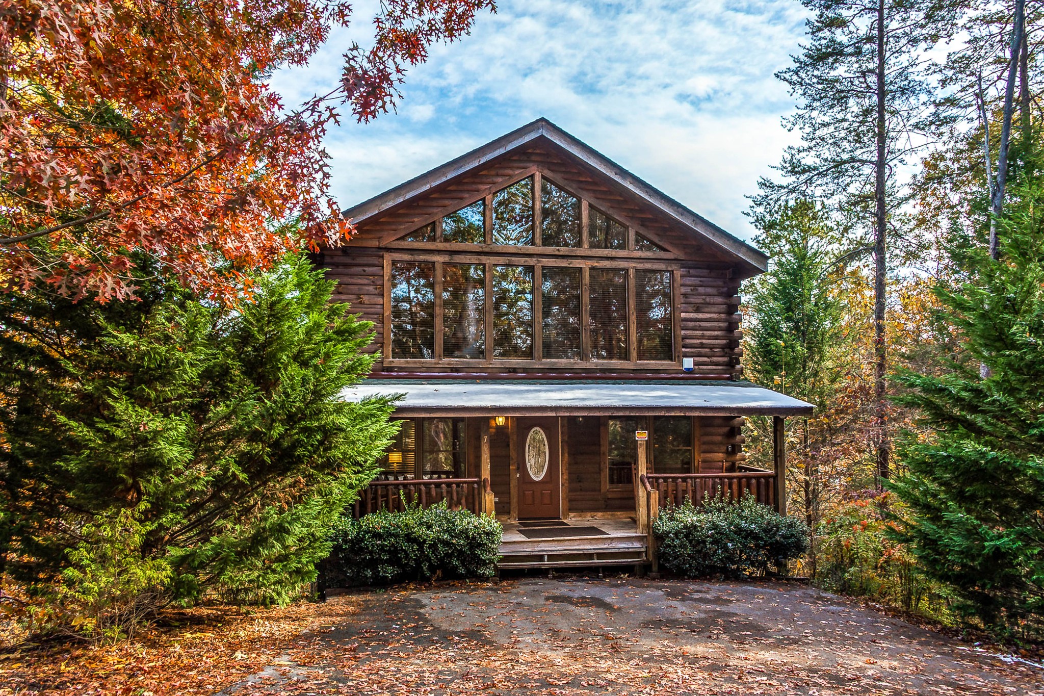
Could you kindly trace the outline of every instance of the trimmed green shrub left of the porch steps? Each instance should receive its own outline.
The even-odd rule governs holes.
[[[333,534],[326,586],[432,578],[490,577],[497,572],[500,523],[446,503],[404,512],[345,518]]]

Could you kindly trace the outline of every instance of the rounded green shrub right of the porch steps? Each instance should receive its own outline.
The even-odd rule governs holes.
[[[808,528],[748,494],[738,503],[725,498],[695,507],[686,500],[667,507],[652,524],[660,562],[687,577],[741,578],[764,575],[805,553]]]

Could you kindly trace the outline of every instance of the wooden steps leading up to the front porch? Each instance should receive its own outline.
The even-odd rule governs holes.
[[[596,568],[637,566],[647,560],[645,535],[637,532],[631,520],[573,521],[570,526],[598,527],[607,533],[526,538],[517,523],[505,523],[499,567],[503,570]]]

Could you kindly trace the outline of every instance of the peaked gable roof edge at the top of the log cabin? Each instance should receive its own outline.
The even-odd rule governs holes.
[[[343,215],[353,222],[362,222],[413,196],[424,193],[432,187],[444,184],[473,169],[480,168],[493,160],[523,146],[530,145],[541,139],[549,141],[557,148],[565,150],[568,154],[587,165],[587,167],[608,177],[620,187],[641,196],[642,199],[657,211],[675,221],[691,234],[710,242],[712,246],[726,254],[729,258],[735,259],[741,265],[746,266],[748,272],[743,273],[744,277],[767,270],[768,257],[758,248],[734,237],[707,218],[689,210],[544,118],[539,118],[467,154],[462,154],[384,193],[349,208],[343,211]]]

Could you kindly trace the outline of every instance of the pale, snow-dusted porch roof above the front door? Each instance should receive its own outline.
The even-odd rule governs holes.
[[[346,401],[402,394],[397,415],[810,415],[813,406],[744,382],[371,379]]]

